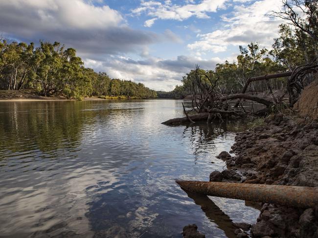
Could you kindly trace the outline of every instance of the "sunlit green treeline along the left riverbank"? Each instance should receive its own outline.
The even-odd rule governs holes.
[[[157,93],[142,83],[110,79],[104,72],[85,68],[73,48],[59,42],[18,43],[0,40],[0,89],[33,89],[43,96],[83,99],[109,95],[157,98]]]

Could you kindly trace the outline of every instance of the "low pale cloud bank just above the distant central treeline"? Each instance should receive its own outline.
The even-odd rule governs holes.
[[[163,91],[170,91],[180,84],[182,76],[193,69],[196,63],[203,69],[213,69],[222,61],[219,58],[201,59],[187,56],[178,56],[176,59],[149,57],[144,60],[114,56],[103,61],[85,60],[87,67],[106,71],[111,78],[142,82],[147,87]]]

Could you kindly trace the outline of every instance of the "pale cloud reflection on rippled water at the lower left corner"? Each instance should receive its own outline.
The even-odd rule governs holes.
[[[90,220],[85,214],[90,208],[88,203],[92,199],[91,195],[97,192],[90,193],[88,188],[96,188],[100,180],[108,181],[107,185],[111,186],[117,181],[113,176],[114,169],[111,172],[97,167],[81,167],[65,170],[64,175],[49,176],[48,173],[49,171],[34,173],[32,176],[35,180],[42,180],[42,176],[50,179],[26,187],[21,192],[17,191],[21,188],[0,188],[3,196],[0,198],[1,218],[10,218],[1,221],[0,233],[4,236],[38,233],[39,237],[49,237],[60,234],[63,228],[64,231],[92,237]],[[13,192],[15,193],[10,195]],[[103,189],[103,193],[107,193],[107,190]],[[43,231],[48,229],[49,232],[45,235]]]

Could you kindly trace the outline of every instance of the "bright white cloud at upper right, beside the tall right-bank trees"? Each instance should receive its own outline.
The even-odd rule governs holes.
[[[278,25],[282,20],[273,19],[268,14],[280,7],[281,2],[277,0],[259,0],[250,5],[236,5],[233,12],[222,16],[223,29],[198,34],[199,40],[188,44],[187,47],[202,53],[227,51],[228,46],[247,45],[251,41],[271,47],[273,38],[278,36]]]

